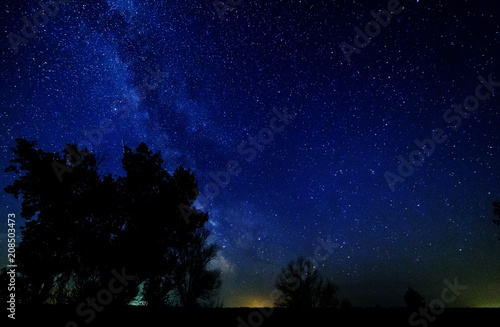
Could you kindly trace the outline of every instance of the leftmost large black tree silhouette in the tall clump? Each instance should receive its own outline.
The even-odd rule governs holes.
[[[101,284],[113,266],[113,225],[119,224],[113,202],[112,179],[99,176],[95,157],[90,155],[66,174],[63,182],[52,165],[65,162],[68,145],[61,154],[35,149],[36,142],[16,139],[14,159],[6,172],[18,178],[5,188],[16,199],[22,197],[22,229],[16,259],[20,302],[72,301],[91,281]],[[24,174],[23,174],[24,173]],[[115,226],[116,228],[116,226]],[[76,278],[78,277],[78,278]]]

